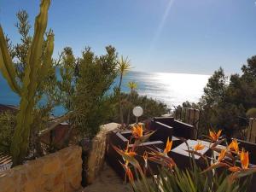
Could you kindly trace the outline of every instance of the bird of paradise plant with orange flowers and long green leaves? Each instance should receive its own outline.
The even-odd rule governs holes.
[[[133,138],[140,141],[142,137],[147,137],[147,133],[143,135],[143,128],[136,125],[133,128]],[[188,145],[187,152],[189,152],[191,161],[190,167],[185,170],[177,167],[174,160],[168,156],[169,153],[172,153],[172,141],[169,138],[163,151],[151,148],[150,153],[143,154],[144,166],[141,166],[136,159],[138,155],[136,146],[127,147],[125,150],[114,146],[113,148],[122,156],[124,162],[120,163],[135,192],[247,191],[252,174],[256,172],[255,167],[249,166],[248,152],[239,148],[236,139],[228,144],[225,138],[221,138],[221,131],[210,131],[207,139],[210,141],[209,146],[202,143],[198,143],[194,147]],[[183,139],[183,142],[186,143],[186,140]],[[222,149],[219,148],[220,143],[225,143]],[[140,142],[137,142],[138,144]],[[201,149],[207,147],[212,150],[212,156],[201,154]],[[197,166],[195,155],[200,155],[206,160],[208,165],[206,169],[202,170]],[[153,181],[146,177],[146,172],[150,172],[148,161],[159,164],[159,174],[152,175]],[[135,170],[135,175],[131,170]]]

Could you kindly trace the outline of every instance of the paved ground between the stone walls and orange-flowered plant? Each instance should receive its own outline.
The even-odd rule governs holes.
[[[124,183],[119,176],[113,172],[113,169],[104,166],[101,175],[94,183],[81,190],[81,192],[132,192],[129,183]]]

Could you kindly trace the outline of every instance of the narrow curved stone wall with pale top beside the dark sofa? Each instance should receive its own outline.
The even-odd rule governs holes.
[[[101,131],[94,137],[88,158],[87,183],[93,183],[96,176],[102,171],[109,133],[119,128],[119,124],[102,125]]]

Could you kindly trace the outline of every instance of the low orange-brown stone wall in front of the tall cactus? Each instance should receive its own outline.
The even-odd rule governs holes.
[[[64,148],[0,172],[1,192],[73,192],[81,188],[82,149]]]

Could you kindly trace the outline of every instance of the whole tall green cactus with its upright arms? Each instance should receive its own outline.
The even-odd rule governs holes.
[[[25,76],[21,85],[17,82],[15,67],[9,55],[2,27],[0,26],[0,70],[3,73],[3,77],[7,79],[10,88],[20,96],[20,111],[17,114],[17,125],[11,144],[14,165],[21,164],[22,160],[26,157],[30,131],[34,119],[33,109],[36,105],[35,96],[38,90],[38,84],[44,80],[52,64],[51,56],[54,49],[53,32],[48,33],[44,57],[42,56],[49,4],[50,0],[41,1],[40,13],[35,20],[32,44],[27,55]]]

